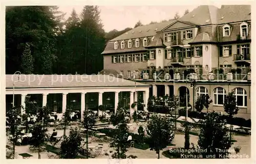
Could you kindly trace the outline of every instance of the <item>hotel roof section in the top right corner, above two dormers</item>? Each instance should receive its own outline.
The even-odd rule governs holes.
[[[223,5],[218,11],[218,24],[251,20],[250,13],[250,5]]]

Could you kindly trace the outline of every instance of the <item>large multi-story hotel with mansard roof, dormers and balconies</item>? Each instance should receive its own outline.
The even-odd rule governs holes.
[[[112,70],[151,84],[150,96],[179,95],[181,106],[186,92],[191,106],[208,94],[209,110],[223,111],[225,95],[234,91],[236,116],[250,119],[250,42],[249,5],[199,6],[178,20],[139,26],[110,40],[101,73]]]

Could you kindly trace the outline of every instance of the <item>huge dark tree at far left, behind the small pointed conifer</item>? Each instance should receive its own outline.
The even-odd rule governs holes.
[[[52,74],[58,22],[50,9],[49,6],[6,8],[7,74],[22,69],[22,54],[27,42],[35,59],[33,74]]]

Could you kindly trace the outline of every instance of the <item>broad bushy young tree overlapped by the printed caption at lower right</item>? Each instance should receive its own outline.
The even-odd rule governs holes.
[[[228,137],[227,123],[220,113],[213,111],[206,115],[205,120],[200,120],[200,135],[198,145],[200,149],[206,150],[202,153],[213,155],[214,158],[227,158],[231,147],[231,142]],[[221,151],[220,151],[221,150]]]

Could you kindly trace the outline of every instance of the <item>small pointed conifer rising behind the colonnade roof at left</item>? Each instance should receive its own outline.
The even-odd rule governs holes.
[[[32,74],[34,70],[34,58],[31,55],[30,45],[26,43],[25,50],[22,54],[22,69],[24,74]]]

